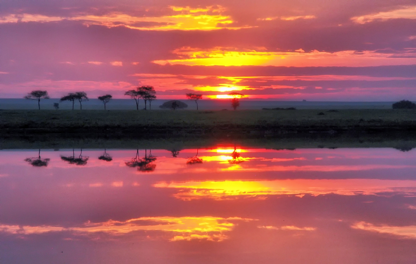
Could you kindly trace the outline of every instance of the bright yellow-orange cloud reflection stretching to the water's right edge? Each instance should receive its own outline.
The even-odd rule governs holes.
[[[237,196],[254,197],[258,195],[310,194],[316,196],[325,194],[377,195],[382,192],[416,193],[416,181],[413,180],[373,179],[160,182],[156,183],[154,187],[176,188],[179,192],[174,196],[183,200],[200,199],[202,197],[221,200]]]

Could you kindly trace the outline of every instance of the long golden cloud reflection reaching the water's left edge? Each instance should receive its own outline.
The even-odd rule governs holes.
[[[0,225],[0,231],[10,234],[40,234],[57,231],[75,231],[81,233],[103,232],[110,235],[128,234],[134,231],[163,231],[173,234],[170,241],[206,239],[222,241],[228,236],[223,234],[233,230],[235,224],[230,221],[251,221],[240,217],[140,217],[127,221],[108,220],[106,222],[87,222],[79,227]]]

